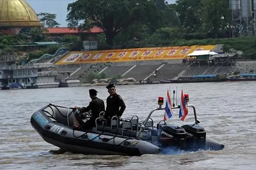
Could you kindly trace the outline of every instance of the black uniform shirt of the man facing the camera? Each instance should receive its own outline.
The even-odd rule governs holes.
[[[124,100],[120,95],[115,94],[113,96],[108,96],[105,117],[111,118],[115,115],[121,117],[125,108]]]

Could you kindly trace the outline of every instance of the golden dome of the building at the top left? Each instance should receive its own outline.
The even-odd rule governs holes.
[[[25,0],[0,0],[0,27],[43,27]]]

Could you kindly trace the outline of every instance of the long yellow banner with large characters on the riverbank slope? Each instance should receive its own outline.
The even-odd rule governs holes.
[[[60,65],[182,59],[185,58],[188,54],[193,53],[195,50],[212,50],[214,47],[215,45],[206,45],[70,52],[56,64]]]

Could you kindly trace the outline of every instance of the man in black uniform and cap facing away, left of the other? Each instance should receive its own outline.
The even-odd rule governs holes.
[[[97,93],[98,93],[97,90],[90,89],[89,90],[89,95],[90,95],[90,98],[92,99],[92,101],[89,103],[89,105],[87,107],[78,108],[80,113],[91,111],[92,116],[91,116],[90,120],[87,120],[84,123],[82,121],[81,117],[79,117],[77,114],[75,115],[76,119],[79,122],[79,124],[81,125],[80,127],[82,129],[91,129],[92,127],[95,127],[95,120],[96,120],[97,117],[99,117],[99,113],[100,112],[105,112],[104,101],[97,97]]]

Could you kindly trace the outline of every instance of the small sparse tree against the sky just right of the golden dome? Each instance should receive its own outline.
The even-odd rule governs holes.
[[[37,14],[39,20],[44,23],[44,27],[53,28],[58,27],[60,24],[56,21],[56,14],[50,14],[47,12],[40,12]]]

